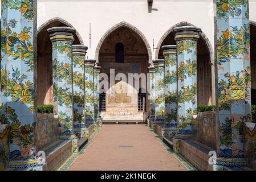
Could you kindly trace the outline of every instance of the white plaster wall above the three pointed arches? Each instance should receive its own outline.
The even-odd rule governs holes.
[[[162,35],[182,21],[202,28],[213,46],[213,5],[212,0],[154,0],[153,10],[149,13],[147,0],[39,0],[38,27],[58,16],[71,23],[82,36],[84,44],[89,46],[91,23],[91,48],[87,56],[94,59],[101,36],[115,24],[125,21],[145,35],[154,59],[153,39],[156,47]]]

